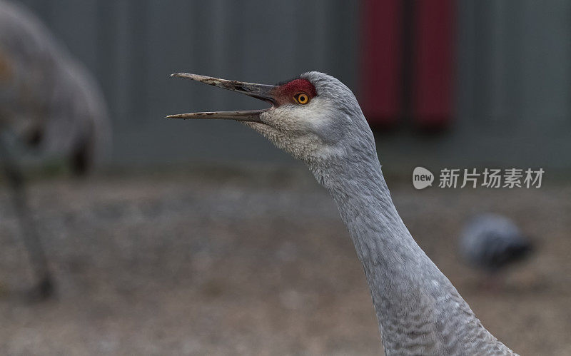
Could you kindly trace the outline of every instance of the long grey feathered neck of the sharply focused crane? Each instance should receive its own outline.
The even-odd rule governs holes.
[[[463,339],[495,340],[415,243],[376,154],[310,168],[333,196],[363,263],[387,355],[453,355]]]

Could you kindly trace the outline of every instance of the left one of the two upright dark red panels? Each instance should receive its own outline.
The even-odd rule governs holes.
[[[402,73],[400,0],[365,0],[360,101],[372,126],[392,126],[400,117]]]

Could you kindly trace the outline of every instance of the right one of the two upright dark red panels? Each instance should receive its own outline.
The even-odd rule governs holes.
[[[423,128],[446,126],[453,116],[452,0],[415,1],[413,117]]]

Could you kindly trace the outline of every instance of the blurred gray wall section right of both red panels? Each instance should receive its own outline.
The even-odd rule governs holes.
[[[571,1],[460,1],[458,65],[458,136],[483,162],[571,168]]]

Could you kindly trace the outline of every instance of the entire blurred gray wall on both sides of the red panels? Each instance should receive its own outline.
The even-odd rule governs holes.
[[[261,107],[175,71],[273,83],[315,69],[358,86],[359,1],[23,2],[101,81],[116,163],[293,162],[237,123],[163,119]],[[385,166],[571,168],[571,2],[459,0],[457,27],[455,125],[378,136]]]

